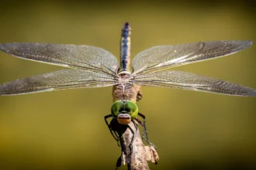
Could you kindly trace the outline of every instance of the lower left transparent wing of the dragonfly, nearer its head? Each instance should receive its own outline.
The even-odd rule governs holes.
[[[108,87],[115,83],[113,76],[89,70],[58,70],[0,85],[1,95],[37,93],[74,88]]]

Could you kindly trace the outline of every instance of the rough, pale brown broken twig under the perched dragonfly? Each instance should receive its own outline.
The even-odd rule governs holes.
[[[130,156],[125,155],[123,152],[123,164],[128,166],[128,170],[148,170],[150,169],[147,162],[154,162],[157,164],[159,159],[157,151],[151,145],[145,146],[140,138],[139,128],[135,127],[133,122],[129,124],[130,128],[133,129],[134,134],[129,128],[122,135],[123,149],[126,151],[127,155],[130,155],[130,141],[132,141],[134,135],[134,141],[132,144],[132,154]]]

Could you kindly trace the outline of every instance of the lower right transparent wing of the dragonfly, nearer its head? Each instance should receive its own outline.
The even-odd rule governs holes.
[[[256,90],[236,83],[182,71],[161,71],[136,76],[133,83],[148,87],[174,87],[236,96],[256,96]]]

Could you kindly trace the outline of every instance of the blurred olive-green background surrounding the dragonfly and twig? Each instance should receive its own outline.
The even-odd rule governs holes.
[[[132,56],[159,45],[254,40],[253,1],[1,1],[0,42],[99,46],[119,57],[132,27]],[[255,44],[232,56],[176,67],[256,88]],[[0,53],[0,83],[61,67]],[[114,169],[120,148],[103,120],[112,87],[0,97],[0,169]],[[256,98],[143,87],[158,165],[151,169],[256,169]],[[126,169],[123,166],[120,169]]]

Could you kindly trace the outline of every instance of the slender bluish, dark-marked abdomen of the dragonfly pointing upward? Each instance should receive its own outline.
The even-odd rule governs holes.
[[[120,72],[129,71],[130,66],[130,26],[126,22],[122,29],[122,37],[120,42]]]

